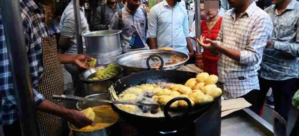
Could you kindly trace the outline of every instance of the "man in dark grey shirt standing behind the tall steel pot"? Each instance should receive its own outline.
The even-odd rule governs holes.
[[[116,0],[107,0],[106,4],[97,7],[92,19],[91,30],[108,30],[114,13],[121,8],[123,8],[123,4],[117,3]]]

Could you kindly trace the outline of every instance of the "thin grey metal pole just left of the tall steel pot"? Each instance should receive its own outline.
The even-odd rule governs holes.
[[[75,26],[76,26],[76,40],[77,40],[77,51],[78,54],[83,54],[83,40],[82,40],[82,29],[81,29],[81,15],[79,0],[74,1],[74,14],[75,14]]]

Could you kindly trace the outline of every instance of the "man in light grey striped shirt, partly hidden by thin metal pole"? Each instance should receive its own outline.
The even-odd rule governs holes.
[[[89,24],[87,23],[87,19],[84,13],[83,4],[88,2],[88,0],[80,0],[80,17],[81,17],[81,29],[82,33],[89,32]],[[76,31],[75,31],[75,17],[74,17],[74,3],[73,0],[68,4],[62,13],[60,19],[60,39],[58,47],[61,49],[61,52],[65,54],[77,54],[77,40],[76,40]],[[83,40],[83,49],[85,48],[85,40]],[[77,66],[74,64],[65,64],[65,70],[71,74],[73,79],[73,85],[75,85],[76,81],[76,71]]]

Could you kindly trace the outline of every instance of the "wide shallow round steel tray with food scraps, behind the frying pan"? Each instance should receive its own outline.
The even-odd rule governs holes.
[[[179,61],[173,65],[163,66],[163,70],[173,70],[179,68],[180,66],[187,63],[189,60],[189,55],[179,52],[179,51],[169,51],[169,50],[143,50],[143,51],[133,51],[130,53],[122,54],[115,58],[116,64],[120,65],[122,68],[129,71],[144,71],[147,70],[147,58],[152,54],[160,55],[164,63],[169,62],[171,55],[178,55],[179,57],[185,58],[186,60],[181,62]],[[154,61],[150,60],[149,64],[155,64]],[[153,67],[158,68],[158,67]]]

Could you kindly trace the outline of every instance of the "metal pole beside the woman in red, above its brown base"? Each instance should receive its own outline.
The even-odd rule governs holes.
[[[195,0],[195,35],[196,38],[199,38],[201,35],[201,28],[200,28],[200,0]],[[196,53],[201,53],[202,47],[196,42]]]

